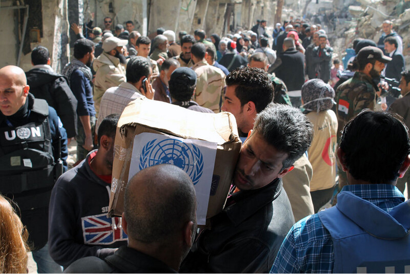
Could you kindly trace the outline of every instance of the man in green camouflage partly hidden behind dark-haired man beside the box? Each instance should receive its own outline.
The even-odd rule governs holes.
[[[261,52],[252,54],[249,59],[248,67],[258,68],[268,72],[269,64],[267,56]],[[289,106],[292,106],[291,99],[288,95],[288,89],[286,88],[285,83],[281,79],[276,77],[274,73],[268,75],[274,87],[273,101],[275,103],[289,104]]]

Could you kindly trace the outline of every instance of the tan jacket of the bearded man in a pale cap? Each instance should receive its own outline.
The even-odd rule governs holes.
[[[93,69],[95,71],[94,107],[98,115],[99,104],[104,92],[111,87],[118,87],[121,82],[127,79],[125,69],[119,63],[119,59],[106,52],[101,53],[94,60]]]

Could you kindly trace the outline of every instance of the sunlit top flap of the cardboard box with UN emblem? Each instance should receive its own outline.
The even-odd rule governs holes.
[[[177,123],[176,117],[181,118]],[[238,136],[235,117],[231,113],[201,113],[147,98],[130,102],[118,121],[121,129],[125,125],[137,124],[177,137],[216,142],[218,145],[236,141]]]

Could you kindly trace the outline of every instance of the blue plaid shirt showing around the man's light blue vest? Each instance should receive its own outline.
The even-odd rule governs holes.
[[[346,185],[342,191],[367,200],[389,212],[404,202],[396,186],[388,184]],[[329,231],[317,214],[297,222],[284,239],[271,273],[332,273],[335,262]]]

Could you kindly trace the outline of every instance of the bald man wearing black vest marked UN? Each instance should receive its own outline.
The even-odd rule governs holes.
[[[48,208],[54,182],[67,170],[67,134],[55,110],[29,90],[22,69],[0,69],[0,192],[19,207],[38,272],[56,273]]]

